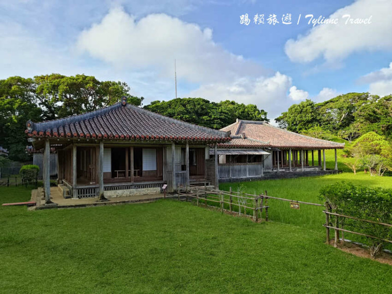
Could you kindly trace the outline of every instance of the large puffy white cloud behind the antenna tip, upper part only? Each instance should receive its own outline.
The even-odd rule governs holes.
[[[136,21],[121,8],[110,10],[99,24],[84,30],[77,48],[117,67],[154,67],[162,77],[173,76],[176,59],[177,77],[196,83],[267,73],[260,65],[223,50],[208,27],[166,14]]]

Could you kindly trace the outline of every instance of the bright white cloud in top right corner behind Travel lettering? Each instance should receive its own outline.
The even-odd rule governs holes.
[[[285,52],[292,61],[310,62],[323,57],[327,63],[337,63],[351,53],[359,51],[391,50],[391,0],[357,0],[330,15],[339,19],[337,25],[323,24],[310,29],[305,36],[286,42]],[[371,18],[371,24],[345,24],[343,15],[351,18]],[[317,16],[318,17],[318,16]]]

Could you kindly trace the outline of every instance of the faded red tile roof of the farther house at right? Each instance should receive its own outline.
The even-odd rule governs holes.
[[[271,126],[265,122],[237,120],[234,124],[221,129],[231,132],[232,140],[219,144],[220,147],[300,148],[300,149],[343,149],[344,144],[321,140]],[[235,139],[237,137],[242,139]]]

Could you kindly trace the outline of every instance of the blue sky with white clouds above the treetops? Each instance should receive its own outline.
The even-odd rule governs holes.
[[[273,119],[307,98],[392,93],[391,10],[390,0],[1,0],[0,78],[84,73],[125,81],[148,104],[174,98],[175,58],[179,97],[253,103]],[[338,24],[313,27],[308,14]]]

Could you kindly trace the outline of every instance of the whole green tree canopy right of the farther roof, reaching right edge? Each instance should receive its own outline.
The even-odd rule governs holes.
[[[368,132],[392,138],[392,95],[347,93],[321,103],[306,100],[289,107],[275,121],[297,133],[320,126],[349,141]]]

